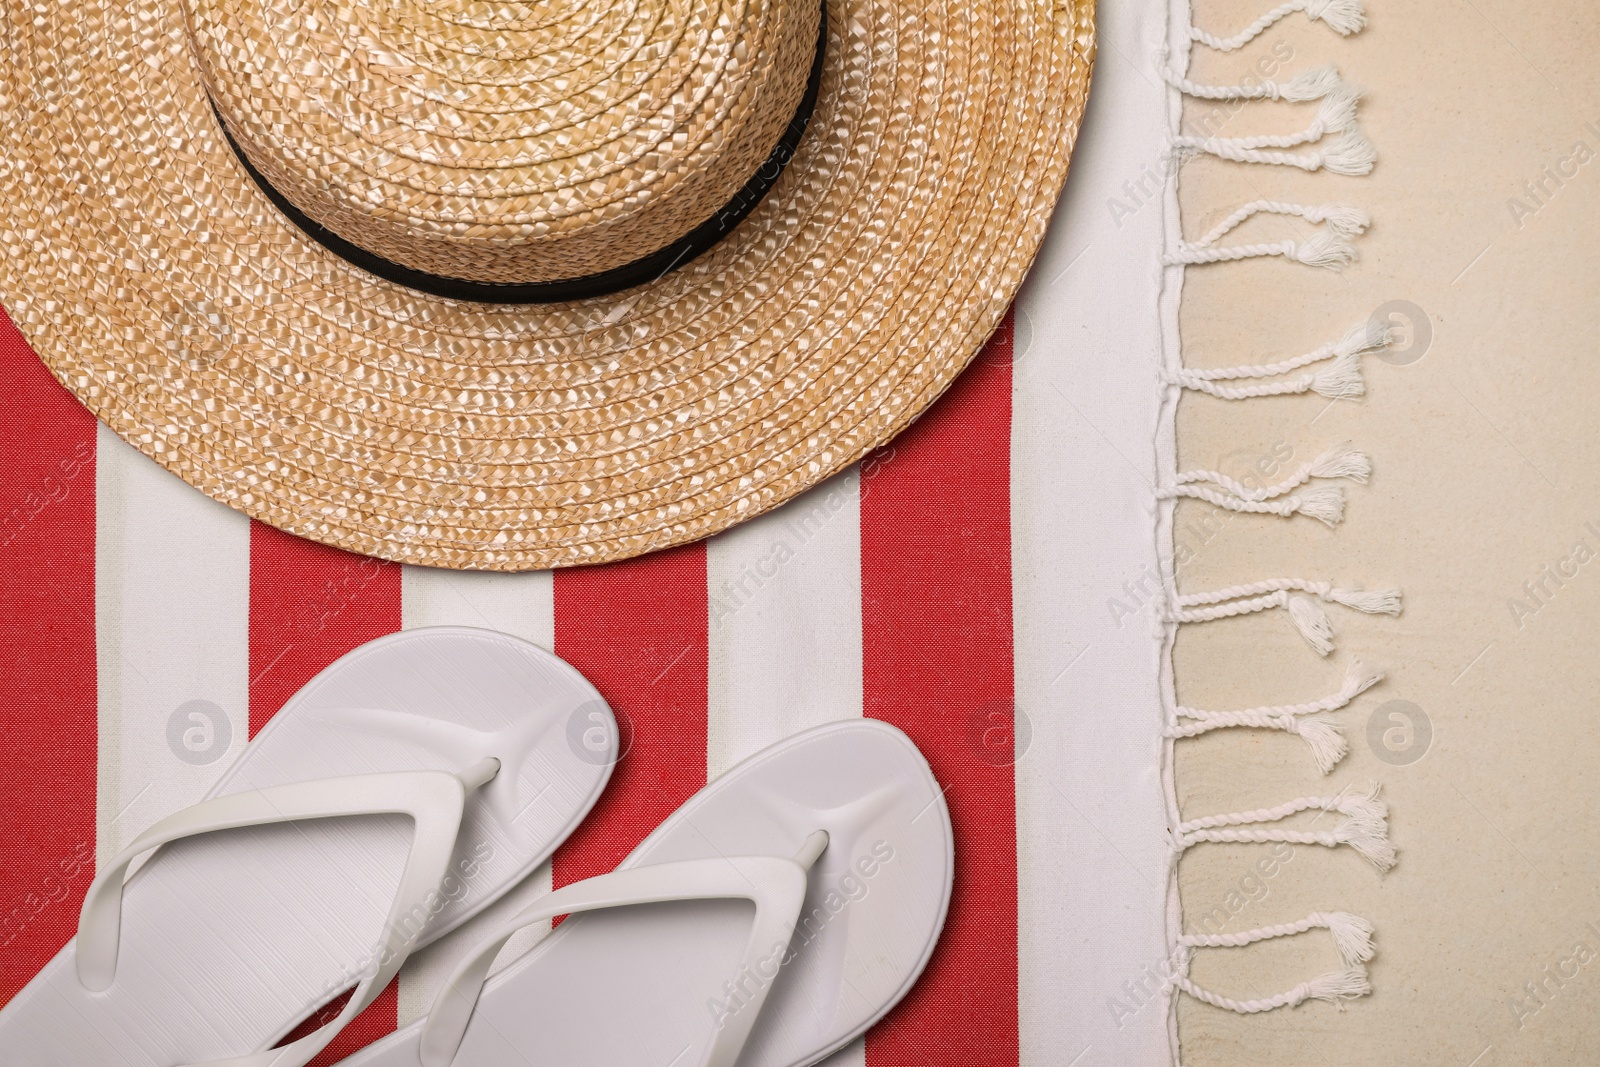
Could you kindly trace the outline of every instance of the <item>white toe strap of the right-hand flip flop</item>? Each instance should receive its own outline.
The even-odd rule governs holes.
[[[450,1067],[467,1033],[467,1024],[483,993],[494,957],[517,931],[557,915],[667,901],[750,901],[755,904],[755,920],[736,974],[758,973],[762,960],[771,955],[774,945],[779,950],[789,945],[805,902],[806,872],[824,848],[827,833],[818,830],[792,859],[731,856],[629,867],[576,881],[539,897],[474,949],[445,982],[422,1022],[419,1049],[422,1067]],[[733,1067],[762,1013],[768,989],[771,982],[758,984],[739,1011],[722,1016],[702,1067]]]

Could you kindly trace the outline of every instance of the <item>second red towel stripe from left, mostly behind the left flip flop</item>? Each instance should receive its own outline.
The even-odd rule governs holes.
[[[318,670],[400,629],[400,566],[250,525],[250,736]],[[325,1009],[326,1011],[326,1009]],[[365,1048],[397,1025],[394,982],[312,1067]],[[317,1025],[312,1019],[285,1040]]]

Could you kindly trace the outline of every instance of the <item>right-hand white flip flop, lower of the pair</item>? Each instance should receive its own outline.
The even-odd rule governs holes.
[[[424,1019],[341,1067],[816,1064],[917,981],[952,859],[944,793],[906,734],[872,720],[795,734],[690,798],[613,873],[504,923]],[[562,913],[485,981],[512,934]]]

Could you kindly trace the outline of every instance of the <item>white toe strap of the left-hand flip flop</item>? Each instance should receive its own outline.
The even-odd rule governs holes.
[[[443,880],[454,853],[467,793],[494,777],[498,760],[446,771],[390,771],[326,777],[205,800],[166,816],[110,861],[90,885],[78,917],[77,973],[85,989],[101,992],[117,979],[122,945],[122,891],[128,865],[152,848],[214,830],[237,830],[301,819],[363,814],[411,816],[414,832],[394,905],[384,921],[382,950],[357,984],[344,1009],[328,1024],[282,1048],[184,1067],[304,1067],[346,1024],[362,1013],[395,976],[414,933],[400,920],[422,904]]]

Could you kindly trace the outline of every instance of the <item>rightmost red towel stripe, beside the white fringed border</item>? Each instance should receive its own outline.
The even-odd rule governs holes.
[[[874,1067],[1018,1062],[1010,456],[1006,315],[950,390],[862,467],[866,713],[910,734],[955,824],[944,936],[867,1035]]]

